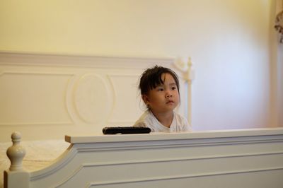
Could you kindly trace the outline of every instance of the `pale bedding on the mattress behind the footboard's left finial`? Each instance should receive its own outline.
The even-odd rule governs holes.
[[[4,170],[10,166],[10,161],[6,155],[6,150],[12,142],[0,143],[0,187],[4,187]],[[69,146],[64,140],[45,141],[21,141],[25,148],[25,158],[23,158],[23,168],[28,171],[40,170],[52,163]]]

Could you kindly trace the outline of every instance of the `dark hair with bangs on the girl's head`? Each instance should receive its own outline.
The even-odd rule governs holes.
[[[139,89],[141,90],[141,95],[148,95],[149,90],[152,90],[157,86],[163,84],[161,75],[165,73],[171,74],[171,76],[173,76],[179,93],[180,86],[178,75],[175,74],[175,72],[171,69],[156,65],[152,68],[146,69],[144,73],[141,74],[141,78],[139,79]]]

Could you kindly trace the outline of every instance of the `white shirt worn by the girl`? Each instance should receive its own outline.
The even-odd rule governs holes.
[[[149,127],[152,132],[191,131],[191,127],[187,122],[187,119],[176,112],[173,113],[173,121],[170,127],[165,127],[161,124],[150,110],[147,110],[141,115],[141,117],[139,117],[137,122],[135,122],[134,127]]]

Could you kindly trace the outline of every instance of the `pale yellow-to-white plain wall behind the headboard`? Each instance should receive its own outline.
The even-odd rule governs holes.
[[[273,6],[274,0],[0,1],[0,50],[190,56],[195,129],[276,127]]]

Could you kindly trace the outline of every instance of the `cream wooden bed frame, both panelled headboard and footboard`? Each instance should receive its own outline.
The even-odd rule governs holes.
[[[52,165],[28,172],[13,133],[4,186],[282,188],[282,128],[102,135],[143,112],[137,81],[154,64],[179,75],[177,110],[190,122],[190,61],[0,52],[0,141],[19,131],[23,141],[69,135],[70,143]]]

